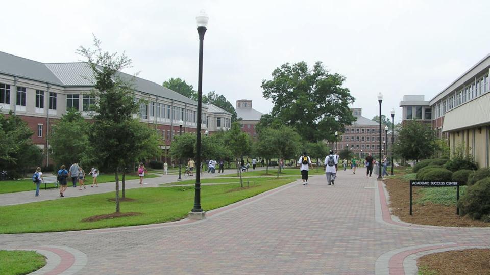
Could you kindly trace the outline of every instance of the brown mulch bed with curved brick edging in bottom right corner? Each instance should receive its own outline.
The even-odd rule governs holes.
[[[421,274],[490,274],[490,249],[434,253],[421,257],[417,265],[424,270]]]

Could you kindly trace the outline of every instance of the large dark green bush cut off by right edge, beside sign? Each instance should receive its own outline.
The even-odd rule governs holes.
[[[469,186],[458,202],[459,214],[472,219],[487,219],[490,215],[490,178]]]

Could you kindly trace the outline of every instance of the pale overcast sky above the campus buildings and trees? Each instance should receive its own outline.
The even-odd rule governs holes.
[[[209,16],[203,91],[235,105],[262,98],[263,79],[282,64],[322,61],[347,77],[363,116],[383,114],[406,94],[430,100],[490,52],[490,1],[6,1],[0,51],[40,61],[77,62],[92,33],[126,51],[127,73],[162,84],[180,77],[197,89],[195,16]]]

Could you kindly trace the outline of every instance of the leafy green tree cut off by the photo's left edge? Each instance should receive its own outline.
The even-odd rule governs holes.
[[[19,116],[0,116],[0,170],[8,177],[23,177],[27,169],[40,166],[41,150],[32,143],[33,132]]]

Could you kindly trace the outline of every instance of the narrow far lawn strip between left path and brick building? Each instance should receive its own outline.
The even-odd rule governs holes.
[[[44,174],[43,176],[53,176],[52,174]],[[156,175],[146,175],[144,176],[145,178],[155,178],[158,177]],[[138,176],[131,176],[127,175],[126,180],[132,180],[132,179],[138,179]],[[119,180],[122,179],[122,176],[119,174]],[[71,179],[68,178],[68,185],[71,184]],[[97,177],[97,182],[99,183],[106,183],[106,182],[115,182],[116,179],[113,174],[109,175],[99,175]],[[85,177],[85,184],[90,185],[92,184],[92,176],[87,175]],[[54,183],[48,183],[47,188],[53,188],[55,187]],[[41,183],[41,189],[44,189],[44,183]],[[2,180],[0,181],[0,194],[4,193],[13,193],[13,192],[21,192],[21,191],[30,191],[30,190],[36,190],[36,184],[32,182],[32,180],[27,179],[27,180]]]

